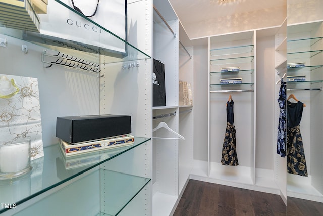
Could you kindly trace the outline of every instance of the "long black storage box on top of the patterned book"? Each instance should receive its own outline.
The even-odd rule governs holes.
[[[56,119],[56,137],[79,143],[131,133],[129,115],[67,116]]]

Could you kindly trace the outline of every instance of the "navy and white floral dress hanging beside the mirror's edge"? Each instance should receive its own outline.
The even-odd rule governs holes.
[[[277,154],[286,157],[286,82],[281,79],[281,87],[279,90],[279,123],[277,133]]]

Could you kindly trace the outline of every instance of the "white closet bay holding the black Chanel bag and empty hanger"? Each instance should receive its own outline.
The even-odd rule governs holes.
[[[178,111],[179,21],[168,1],[153,1],[153,57],[165,65],[166,106],[152,107],[152,115],[176,113],[152,121],[155,128],[164,121],[179,132]],[[153,133],[152,214],[170,215],[178,200],[179,138],[162,128]],[[165,138],[165,139],[160,139]],[[173,139],[169,139],[173,138]]]

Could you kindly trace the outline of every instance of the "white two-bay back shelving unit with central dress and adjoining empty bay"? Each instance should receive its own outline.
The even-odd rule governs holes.
[[[209,140],[207,151],[198,155],[207,159],[194,159],[190,177],[279,194],[286,201],[286,169],[281,170],[286,162],[276,158],[277,124],[273,122],[278,120],[274,112],[277,71],[286,72],[286,21],[281,26],[209,37],[208,53]],[[239,72],[221,72],[221,67],[233,66],[239,66]],[[220,78],[235,77],[241,77],[242,83],[219,83]],[[235,102],[238,166],[220,163],[229,94]],[[202,149],[200,144],[194,148]]]

